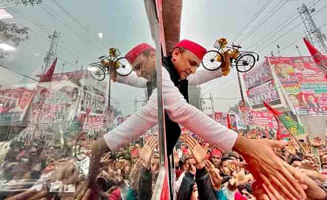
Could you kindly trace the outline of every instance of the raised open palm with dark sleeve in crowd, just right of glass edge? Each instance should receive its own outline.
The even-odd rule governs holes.
[[[196,141],[196,139],[187,137],[186,142],[192,152],[197,168],[203,168],[205,165],[205,157],[208,152],[209,145],[206,144],[204,148]]]

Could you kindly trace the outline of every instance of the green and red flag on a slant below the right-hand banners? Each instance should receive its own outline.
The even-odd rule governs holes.
[[[285,128],[289,131],[290,134],[293,136],[305,134],[305,129],[301,126],[301,124],[292,119],[292,117],[279,112],[277,109],[271,108],[266,102],[264,102],[265,107],[272,112],[272,114],[276,117],[278,122],[278,132],[279,130],[279,121],[281,121]]]

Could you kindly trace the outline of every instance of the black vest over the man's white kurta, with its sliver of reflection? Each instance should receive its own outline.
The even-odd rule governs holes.
[[[184,79],[182,81],[179,81],[179,74],[177,73],[171,61],[171,57],[162,57],[162,66],[164,66],[167,69],[171,81],[179,89],[179,92],[184,96],[186,102],[189,103],[188,80]],[[155,80],[147,83],[148,97],[150,97],[154,88],[156,88]],[[166,111],[165,111],[165,123],[166,123],[167,155],[170,156],[173,153],[173,148],[178,141],[181,130],[178,123],[172,121],[169,118]]]

